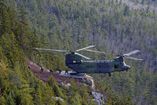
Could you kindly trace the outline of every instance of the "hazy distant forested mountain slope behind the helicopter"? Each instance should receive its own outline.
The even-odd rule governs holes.
[[[130,96],[139,104],[156,104],[157,15],[156,11],[134,10],[114,0],[34,0],[6,1],[17,9],[23,4],[27,11],[29,28],[36,28],[41,45],[38,47],[75,50],[89,44],[96,49],[114,54],[138,49],[143,62],[127,60],[131,70],[115,73],[111,78],[93,75],[101,85]],[[82,52],[88,54],[87,52]],[[111,55],[88,54],[93,59],[112,59]],[[39,57],[34,56],[34,59]],[[42,52],[40,65],[65,69],[64,56]],[[110,88],[109,88],[110,87]],[[144,97],[144,98],[142,98]]]

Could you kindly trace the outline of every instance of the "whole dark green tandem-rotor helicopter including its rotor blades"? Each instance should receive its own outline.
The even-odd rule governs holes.
[[[124,58],[133,59],[133,60],[143,60],[134,57],[130,57],[130,55],[136,54],[140,52],[139,50],[131,51],[127,54],[118,55],[114,60],[111,61],[85,61],[84,59],[91,59],[87,56],[79,54],[77,52],[85,50],[89,52],[97,52],[97,53],[104,53],[100,51],[90,50],[89,48],[94,47],[94,45],[87,46],[75,51],[69,50],[56,50],[56,49],[44,49],[44,48],[36,48],[37,50],[45,50],[45,51],[56,51],[56,52],[69,52],[66,54],[65,64],[67,67],[79,73],[108,73],[111,76],[111,72],[120,72],[120,71],[127,71],[130,69],[129,65],[126,65],[124,62]]]

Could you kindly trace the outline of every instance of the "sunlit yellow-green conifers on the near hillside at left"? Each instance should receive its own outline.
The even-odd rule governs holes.
[[[44,83],[33,75],[26,61],[40,43],[24,16],[23,7],[17,14],[0,1],[0,105],[67,105],[55,97],[73,105],[96,105],[84,84],[79,88],[71,79],[72,86],[59,87],[52,76]]]

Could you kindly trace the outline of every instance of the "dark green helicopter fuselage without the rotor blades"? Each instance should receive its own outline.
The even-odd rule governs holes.
[[[66,55],[66,66],[77,73],[111,73],[130,69],[121,57],[112,61],[84,61],[76,54]]]

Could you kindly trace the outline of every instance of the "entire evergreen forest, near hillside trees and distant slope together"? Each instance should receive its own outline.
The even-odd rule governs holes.
[[[39,52],[35,48],[76,50],[96,45],[97,53],[81,54],[93,60],[112,60],[114,55],[140,50],[143,61],[125,60],[128,72],[89,74],[97,91],[107,93],[105,103],[157,104],[157,10],[155,0],[0,0],[0,105],[62,105],[53,96],[72,105],[96,104],[90,91],[74,84],[70,92],[36,78],[25,65],[28,59],[51,69],[68,69],[65,54]],[[68,69],[70,70],[70,69]],[[73,97],[70,97],[73,96]],[[27,98],[26,98],[27,97]]]

